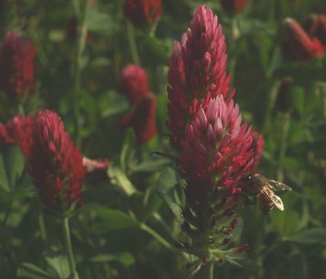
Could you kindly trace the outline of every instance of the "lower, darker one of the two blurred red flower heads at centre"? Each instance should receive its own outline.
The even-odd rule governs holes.
[[[121,127],[134,129],[138,145],[147,143],[156,135],[156,97],[152,92],[147,92],[136,103],[134,110],[122,119]]]

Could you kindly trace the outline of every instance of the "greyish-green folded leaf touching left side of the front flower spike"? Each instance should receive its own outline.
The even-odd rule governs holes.
[[[178,174],[168,167],[156,181],[156,190],[165,203],[170,207],[178,220],[181,220],[181,197],[176,191],[176,185],[179,184],[181,178]]]

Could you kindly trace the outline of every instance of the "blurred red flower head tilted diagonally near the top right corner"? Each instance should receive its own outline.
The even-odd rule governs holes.
[[[294,19],[285,19],[286,37],[283,41],[283,52],[289,58],[303,61],[323,56],[325,48],[314,37],[311,39]]]

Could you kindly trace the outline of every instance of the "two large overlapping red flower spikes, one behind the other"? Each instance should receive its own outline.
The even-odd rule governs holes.
[[[194,270],[245,250],[227,245],[243,207],[240,182],[252,171],[259,152],[258,147],[255,153],[251,128],[241,125],[239,107],[232,100],[225,52],[217,17],[200,6],[170,60],[167,127],[186,183],[181,228],[191,239],[177,246],[198,257],[188,265]]]

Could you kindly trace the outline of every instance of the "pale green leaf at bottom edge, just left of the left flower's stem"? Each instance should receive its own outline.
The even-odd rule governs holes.
[[[59,278],[68,278],[70,276],[70,267],[65,251],[51,249],[45,251],[44,257],[50,267],[56,271]]]

